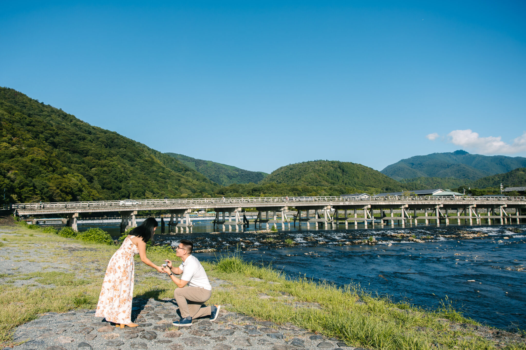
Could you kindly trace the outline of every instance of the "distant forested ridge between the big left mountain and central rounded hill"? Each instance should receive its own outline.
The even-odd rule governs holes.
[[[250,182],[257,184],[268,175],[264,172],[251,172],[232,165],[204,161],[183,154],[170,152],[165,154],[176,158],[181,163],[186,164],[188,167],[205,175],[211,181],[223,186],[231,184],[248,184]]]

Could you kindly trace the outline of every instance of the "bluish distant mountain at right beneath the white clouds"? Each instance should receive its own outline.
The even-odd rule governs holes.
[[[453,177],[476,180],[526,166],[524,157],[470,154],[466,151],[419,155],[388,165],[381,173],[393,179],[418,177]],[[406,180],[410,181],[410,180]]]

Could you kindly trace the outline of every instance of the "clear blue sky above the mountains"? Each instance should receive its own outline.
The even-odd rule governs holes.
[[[252,171],[526,156],[525,4],[3,1],[0,86]]]

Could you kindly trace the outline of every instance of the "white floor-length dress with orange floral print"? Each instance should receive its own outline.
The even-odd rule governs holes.
[[[130,236],[135,237],[135,236]],[[131,300],[135,270],[135,254],[139,253],[131,240],[126,237],[123,245],[109,260],[104,282],[100,290],[96,317],[106,317],[114,323],[131,323]]]

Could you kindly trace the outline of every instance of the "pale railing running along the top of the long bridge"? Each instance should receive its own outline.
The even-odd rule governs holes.
[[[99,200],[99,201],[73,201],[73,202],[52,202],[52,203],[18,203],[13,204],[13,209],[42,210],[42,209],[87,209],[87,208],[119,208],[120,210],[133,209],[140,210],[140,207],[167,207],[185,205],[207,205],[208,207],[254,204],[295,206],[295,204],[305,203],[345,203],[345,202],[526,202],[526,197],[470,197],[470,196],[373,196],[373,197],[346,197],[346,196],[306,196],[306,197],[230,197],[230,198],[178,198],[178,199],[127,199],[127,200]]]

